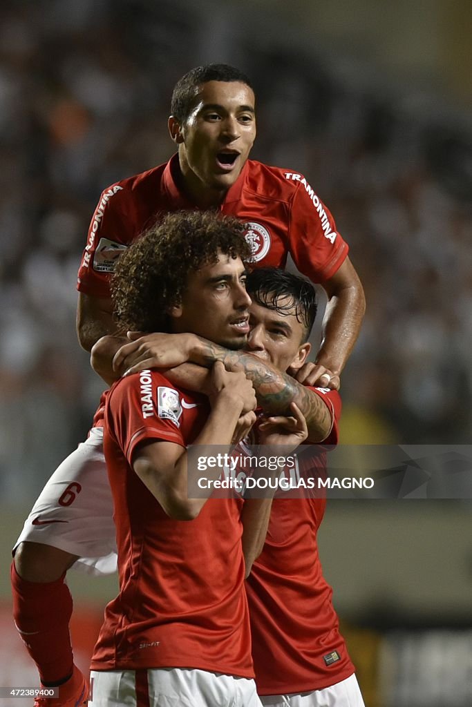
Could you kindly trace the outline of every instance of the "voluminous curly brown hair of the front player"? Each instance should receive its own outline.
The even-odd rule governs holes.
[[[168,311],[180,304],[190,271],[216,263],[219,252],[247,262],[246,227],[214,211],[167,214],[120,257],[110,288],[123,330],[168,331]]]

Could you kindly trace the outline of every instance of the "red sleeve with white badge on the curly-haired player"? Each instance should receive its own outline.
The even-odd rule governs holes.
[[[142,370],[118,381],[108,396],[105,424],[132,464],[137,445],[165,440],[185,447],[180,431],[180,395],[156,371]]]

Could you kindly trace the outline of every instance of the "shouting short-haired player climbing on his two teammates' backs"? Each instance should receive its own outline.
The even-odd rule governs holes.
[[[216,209],[245,224],[256,267],[284,267],[291,255],[298,269],[326,290],[323,343],[311,375],[307,378],[302,368],[299,380],[338,387],[364,313],[362,286],[330,211],[306,178],[293,169],[248,159],[256,133],[250,79],[226,64],[192,69],[175,85],[168,129],[177,148],[168,163],[116,182],[98,201],[79,269],[81,345],[91,351],[100,337],[116,333],[110,275],[130,243],[168,212]],[[133,365],[143,342],[127,344],[117,359],[122,367],[113,368],[113,356],[124,341],[108,341],[108,349],[96,349],[94,366],[110,384]],[[152,341],[144,345],[152,357]],[[13,549],[16,626],[42,684],[62,686],[64,699],[54,707],[75,705],[85,694],[73,662],[72,600],[65,575],[71,566],[90,573],[110,573],[116,567],[102,427],[100,404],[88,439],[47,482]],[[45,698],[36,704],[52,705]]]

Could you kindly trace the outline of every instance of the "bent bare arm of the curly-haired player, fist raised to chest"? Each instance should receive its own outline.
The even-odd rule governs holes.
[[[192,444],[199,445],[202,450],[205,445],[227,445],[229,451],[241,411],[248,405],[255,408],[253,386],[241,371],[227,371],[217,362],[212,368],[209,401],[211,411],[207,422]],[[137,447],[133,468],[167,515],[175,520],[197,518],[206,498],[188,498],[188,452],[185,448],[164,440],[146,442]],[[209,478],[212,472],[216,479],[221,469],[209,469]]]

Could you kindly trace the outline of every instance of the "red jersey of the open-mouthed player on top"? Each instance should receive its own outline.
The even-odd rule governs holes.
[[[93,214],[79,269],[81,292],[108,297],[108,277],[120,253],[160,216],[195,209],[175,182],[178,156],[105,189]],[[247,225],[259,266],[285,267],[290,253],[313,282],[328,280],[347,255],[330,212],[303,175],[248,160],[221,204]]]

